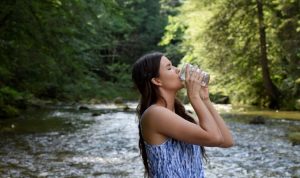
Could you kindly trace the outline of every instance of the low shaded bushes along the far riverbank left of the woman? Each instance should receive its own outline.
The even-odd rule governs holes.
[[[137,91],[131,84],[114,84],[102,82],[94,89],[74,88],[69,92],[62,92],[59,96],[37,97],[31,93],[18,92],[4,87],[0,90],[0,120],[19,117],[28,109],[48,108],[48,106],[78,105],[78,104],[106,104],[123,103],[124,100],[137,100]]]

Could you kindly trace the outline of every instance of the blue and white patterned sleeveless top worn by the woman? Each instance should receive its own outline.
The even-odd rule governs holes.
[[[145,142],[150,177],[204,178],[199,145],[172,138],[160,145]]]

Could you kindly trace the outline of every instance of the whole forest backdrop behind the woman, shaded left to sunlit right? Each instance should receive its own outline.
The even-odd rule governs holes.
[[[300,110],[299,0],[0,5],[0,118],[41,102],[138,100],[131,66],[150,51],[208,71],[215,102]]]

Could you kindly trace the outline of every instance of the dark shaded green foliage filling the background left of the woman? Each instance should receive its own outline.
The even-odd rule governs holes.
[[[13,106],[8,101],[17,100],[15,91],[55,100],[124,94],[113,88],[130,88],[130,65],[135,59],[162,49],[157,44],[172,8],[161,4],[169,3],[1,1],[2,104]]]

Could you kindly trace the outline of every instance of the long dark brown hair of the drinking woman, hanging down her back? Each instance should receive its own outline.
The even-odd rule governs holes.
[[[140,101],[136,109],[139,121],[144,111],[151,105],[155,104],[159,99],[162,99],[165,102],[165,105],[167,104],[165,99],[161,96],[158,88],[151,82],[152,78],[159,77],[160,61],[163,56],[164,55],[159,52],[148,53],[139,58],[133,65],[132,80],[141,94]],[[178,99],[175,99],[175,113],[187,121],[196,123],[195,120],[186,113],[183,104]],[[138,127],[140,136],[139,148],[145,166],[145,175],[149,175],[148,158],[140,122]],[[202,157],[206,160],[207,156],[203,146],[201,146],[201,151]]]

